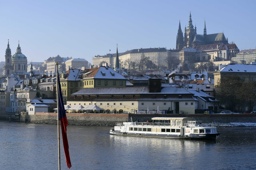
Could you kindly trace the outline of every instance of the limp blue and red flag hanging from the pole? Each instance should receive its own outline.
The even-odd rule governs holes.
[[[59,78],[58,69],[57,69],[57,76]],[[61,132],[62,132],[63,147],[64,147],[64,152],[65,152],[67,167],[70,169],[71,162],[70,162],[70,157],[69,157],[69,143],[67,141],[67,125],[68,125],[68,122],[67,122],[65,107],[64,107],[62,93],[61,93],[61,83],[58,81],[57,85],[58,85],[58,97],[59,97],[58,113],[59,113],[59,120],[61,121]]]

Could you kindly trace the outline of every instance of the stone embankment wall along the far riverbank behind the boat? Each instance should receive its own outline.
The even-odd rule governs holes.
[[[66,113],[69,125],[114,126],[116,122],[146,122],[152,117],[193,117],[202,123],[256,123],[256,114],[106,114],[106,113]],[[21,122],[57,124],[57,113],[21,113]]]

